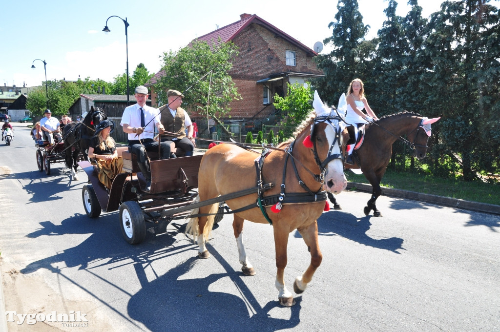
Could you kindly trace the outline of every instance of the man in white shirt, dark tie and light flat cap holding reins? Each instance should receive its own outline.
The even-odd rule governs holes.
[[[161,114],[156,108],[146,105],[147,88],[139,85],[135,88],[136,104],[125,108],[121,117],[120,125],[123,132],[128,134],[128,146],[132,153],[137,155],[137,164],[140,171],[146,178],[146,191],[151,187],[151,172],[146,167],[146,151],[158,151],[158,142],[153,139],[154,126],[158,132],[163,132],[165,128],[160,122]],[[140,139],[140,141],[139,141]],[[142,143],[142,144],[141,144]],[[170,157],[170,144],[160,143],[160,159]]]

